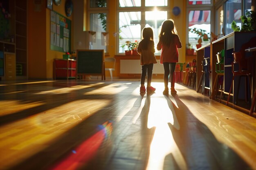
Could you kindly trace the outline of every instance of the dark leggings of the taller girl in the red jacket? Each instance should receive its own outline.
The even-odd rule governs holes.
[[[174,87],[174,83],[175,83],[174,71],[175,71],[176,63],[164,62],[163,64],[164,64],[164,87],[168,87],[169,76],[170,76],[170,80],[172,80],[171,87]]]

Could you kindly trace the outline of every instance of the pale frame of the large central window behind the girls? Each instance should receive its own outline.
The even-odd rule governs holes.
[[[119,13],[120,12],[141,12],[141,30],[145,27],[146,25],[146,18],[145,18],[145,13],[146,11],[154,11],[155,8],[157,8],[158,11],[167,11],[167,18],[170,18],[170,1],[167,2],[167,6],[157,6],[157,7],[146,7],[145,6],[145,0],[141,0],[141,7],[119,7],[119,0],[117,0],[117,24],[116,24],[116,30],[119,32]],[[158,35],[154,35],[158,36]],[[116,36],[116,48],[115,48],[115,53],[116,55],[124,55],[124,53],[119,53],[119,36]],[[156,51],[157,55],[160,55],[160,52]]]

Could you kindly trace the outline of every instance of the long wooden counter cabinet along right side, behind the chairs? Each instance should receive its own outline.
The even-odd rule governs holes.
[[[214,79],[216,77],[216,54],[220,52],[222,49],[225,50],[225,61],[224,61],[224,82],[223,82],[223,93],[229,94],[231,83],[233,83],[233,90],[231,91],[232,96],[238,96],[238,99],[244,99],[244,91],[239,91],[239,94],[236,94],[237,91],[234,91],[234,89],[237,89],[238,87],[238,81],[239,79],[235,78],[234,82],[232,82],[233,73],[231,71],[231,62],[233,61],[233,52],[238,52],[241,49],[241,46],[247,42],[253,37],[256,36],[256,32],[233,32],[228,35],[225,35],[224,37],[212,42],[211,44],[208,44],[207,46],[203,46],[202,48],[198,49],[197,51],[197,61],[198,63],[202,61],[203,57],[206,56],[206,54],[210,55],[210,62],[211,62],[211,86],[213,86]],[[209,53],[207,52],[209,51]],[[252,55],[247,53],[247,55]],[[199,65],[199,64],[198,64]],[[201,70],[201,68],[198,67],[198,71]],[[199,78],[198,78],[199,77]],[[197,76],[199,82],[200,79],[200,73],[198,72]],[[245,81],[243,79],[240,81],[240,88],[245,88]],[[199,84],[197,84],[199,86]],[[214,89],[211,89],[211,93],[216,93]],[[223,99],[223,98],[222,98]],[[224,99],[225,100],[225,99]],[[232,97],[229,102],[234,103],[236,99]],[[240,104],[238,104],[239,106]],[[249,104],[247,104],[249,106]],[[240,105],[241,107],[247,107],[244,104]]]

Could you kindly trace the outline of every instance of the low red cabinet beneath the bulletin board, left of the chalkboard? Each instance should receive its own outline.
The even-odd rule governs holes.
[[[76,60],[54,59],[54,79],[69,79],[76,77]]]

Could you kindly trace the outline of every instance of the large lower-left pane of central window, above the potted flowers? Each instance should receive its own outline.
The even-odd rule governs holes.
[[[141,40],[141,12],[119,12],[119,53],[128,47],[121,46],[127,41],[134,43]]]

